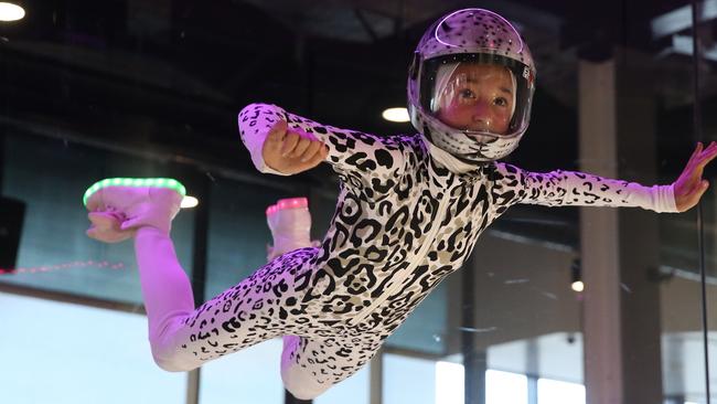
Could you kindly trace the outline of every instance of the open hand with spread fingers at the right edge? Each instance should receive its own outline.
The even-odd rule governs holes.
[[[709,182],[702,179],[702,173],[715,156],[717,156],[716,142],[713,141],[709,143],[709,147],[705,150],[703,150],[702,141],[697,143],[697,148],[692,153],[689,161],[687,161],[687,166],[673,184],[677,211],[685,212],[691,210],[699,202],[703,193],[707,191]]]

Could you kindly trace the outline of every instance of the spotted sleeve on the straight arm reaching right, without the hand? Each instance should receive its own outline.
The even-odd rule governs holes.
[[[495,166],[501,194],[510,204],[636,206],[677,212],[672,185],[644,187],[576,171],[537,173],[506,163]]]

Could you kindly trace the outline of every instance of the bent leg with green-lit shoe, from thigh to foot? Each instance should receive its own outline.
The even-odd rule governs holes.
[[[302,298],[313,249],[286,254],[194,309],[192,289],[169,237],[181,196],[169,189],[108,187],[87,202],[104,242],[135,236],[152,355],[168,371],[189,371],[242,348],[299,329],[292,310]],[[113,222],[119,222],[121,225]],[[131,233],[119,234],[131,230]],[[301,319],[306,320],[306,319]]]

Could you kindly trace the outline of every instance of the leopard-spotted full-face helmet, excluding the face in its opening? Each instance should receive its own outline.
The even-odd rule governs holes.
[[[437,117],[441,89],[460,63],[497,65],[511,73],[513,104],[507,130],[454,128]],[[454,11],[436,21],[416,47],[408,74],[411,124],[432,146],[469,164],[510,155],[527,129],[535,64],[515,28],[483,9]]]

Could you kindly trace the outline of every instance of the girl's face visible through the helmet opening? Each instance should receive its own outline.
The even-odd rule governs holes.
[[[513,113],[513,87],[506,67],[461,63],[440,94],[437,117],[453,128],[504,135]]]

